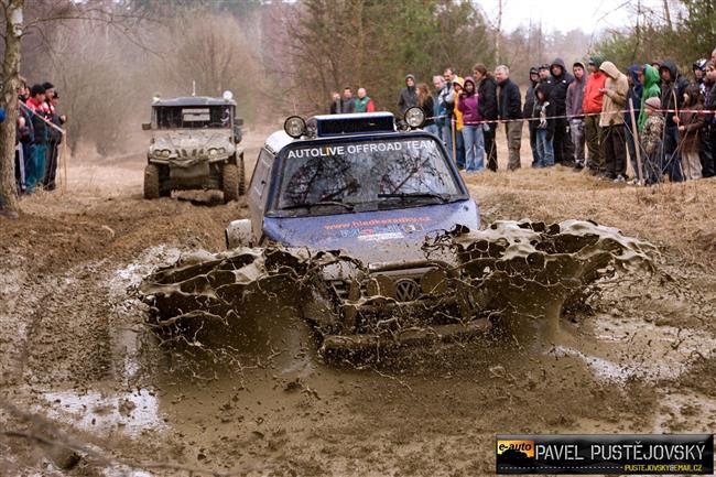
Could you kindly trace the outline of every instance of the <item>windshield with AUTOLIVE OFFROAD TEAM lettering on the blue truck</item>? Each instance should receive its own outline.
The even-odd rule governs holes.
[[[289,150],[273,213],[325,215],[456,198],[464,198],[462,189],[435,140],[391,138]]]

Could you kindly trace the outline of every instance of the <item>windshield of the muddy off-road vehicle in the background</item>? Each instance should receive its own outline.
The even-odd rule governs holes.
[[[158,129],[208,129],[231,126],[230,106],[160,106],[154,108]]]

